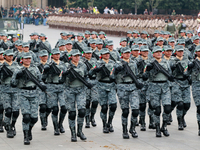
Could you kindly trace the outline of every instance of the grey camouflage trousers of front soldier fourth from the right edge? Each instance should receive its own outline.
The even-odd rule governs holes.
[[[131,110],[138,110],[139,112],[139,94],[134,84],[117,84],[117,96],[122,109],[122,112],[127,109],[129,110],[129,105]],[[122,124],[128,124],[128,116],[121,116]],[[131,116],[131,121],[133,123],[137,122],[137,117]]]

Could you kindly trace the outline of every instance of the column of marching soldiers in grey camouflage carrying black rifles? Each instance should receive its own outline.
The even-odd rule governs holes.
[[[31,33],[28,42],[17,35],[11,42],[6,34],[0,34],[0,132],[5,129],[8,138],[16,136],[20,109],[25,145],[33,139],[38,109],[41,130],[47,130],[51,114],[55,136],[65,133],[63,121],[68,112],[71,141],[76,142],[77,137],[87,139],[84,120],[85,128],[97,126],[95,114],[100,105],[103,133],[114,132],[117,100],[124,139],[129,139],[128,133],[137,138],[139,124],[140,130],[146,131],[147,104],[148,128],[156,129],[156,137],[169,136],[167,125],[173,121],[175,108],[178,130],[187,127],[185,115],[191,96],[197,107],[200,136],[198,35],[181,30],[180,38],[175,39],[169,32],[155,30],[149,38],[146,31],[128,31],[117,49],[103,31],[60,35],[52,49],[43,33]]]

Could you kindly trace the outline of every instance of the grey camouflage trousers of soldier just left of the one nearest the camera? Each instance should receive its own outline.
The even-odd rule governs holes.
[[[13,112],[19,112],[20,106],[19,106],[19,99],[18,99],[18,93],[17,93],[17,89],[16,88],[12,88],[10,86],[2,86],[2,92],[4,94],[2,94],[2,99],[3,99],[3,107],[5,109],[5,111],[7,111],[8,109],[11,109],[12,113]],[[10,124],[11,123],[11,118],[12,121],[16,122],[18,115],[17,116],[4,116],[4,122],[5,124]]]

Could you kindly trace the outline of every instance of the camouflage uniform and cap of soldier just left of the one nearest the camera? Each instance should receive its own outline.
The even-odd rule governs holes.
[[[4,55],[13,55],[13,50],[6,50]],[[9,65],[6,61],[3,63],[10,71],[14,72],[15,68],[18,68],[18,63],[12,62]],[[12,138],[16,135],[15,123],[19,116],[19,99],[17,96],[18,89],[10,87],[11,76],[8,77],[5,74],[1,75],[2,84],[2,99],[3,107],[5,109],[4,123],[7,130],[7,137]],[[11,121],[12,120],[12,121]]]

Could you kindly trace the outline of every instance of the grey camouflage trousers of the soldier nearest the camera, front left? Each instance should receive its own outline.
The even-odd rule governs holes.
[[[29,130],[29,126],[34,126],[34,123],[31,123],[31,119],[38,118],[38,90],[24,90],[19,89],[19,101],[21,105],[21,112],[24,116],[29,115],[29,122],[22,122],[23,130]]]

